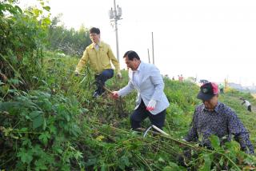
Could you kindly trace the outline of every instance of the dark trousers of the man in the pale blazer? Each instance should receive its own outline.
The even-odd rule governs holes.
[[[150,118],[151,124],[156,125],[159,129],[162,129],[162,126],[165,123],[166,118],[166,109],[162,110],[162,112],[154,115],[146,110],[146,105],[144,101],[138,106],[138,109],[134,110],[134,113],[130,116],[130,125],[132,129],[138,129],[141,127],[141,122],[146,119],[146,117]]]

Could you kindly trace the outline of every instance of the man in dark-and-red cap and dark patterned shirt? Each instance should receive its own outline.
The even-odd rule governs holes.
[[[202,137],[200,144],[211,149],[211,134],[218,136],[221,144],[230,141],[234,135],[234,140],[239,142],[243,151],[254,153],[249,133],[238,116],[229,106],[218,101],[218,85],[212,82],[202,85],[198,98],[202,100],[202,104],[194,111],[186,141],[198,141],[199,137]]]

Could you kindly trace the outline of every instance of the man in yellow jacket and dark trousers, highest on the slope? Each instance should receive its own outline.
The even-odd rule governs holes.
[[[101,41],[100,30],[93,27],[89,32],[92,43],[90,46],[86,47],[82,58],[78,62],[75,73],[79,74],[86,63],[89,62],[90,68],[95,72],[95,80],[97,83],[94,97],[98,97],[105,91],[105,89],[103,89],[105,82],[114,76],[114,70],[112,69],[110,62],[113,63],[114,68],[118,73],[118,78],[122,78],[122,74],[120,73],[119,62],[117,58],[114,57],[110,46]]]

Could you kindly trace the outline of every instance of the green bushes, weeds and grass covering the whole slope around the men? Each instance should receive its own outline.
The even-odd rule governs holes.
[[[15,1],[0,4],[0,169],[6,170],[186,170],[178,165],[178,155],[186,157],[190,169],[255,169],[256,159],[239,150],[235,141],[220,147],[211,137],[214,150],[181,141],[186,135],[198,86],[191,82],[165,80],[170,101],[164,131],[170,136],[130,130],[129,116],[136,93],[114,101],[109,94],[93,99],[94,74],[86,67],[86,78],[75,77],[78,58],[58,57],[50,50],[50,10],[22,11]],[[6,14],[8,13],[8,14]],[[52,50],[55,50],[54,47]],[[107,82],[111,90],[127,83]],[[255,111],[249,113],[239,97],[256,105],[249,93],[232,89],[220,96],[230,105],[250,131],[256,145]],[[143,122],[143,128],[150,125]]]

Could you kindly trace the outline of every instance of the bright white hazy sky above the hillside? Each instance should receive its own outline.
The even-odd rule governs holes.
[[[21,0],[22,6],[35,0]],[[256,84],[256,1],[237,0],[116,0],[122,8],[118,21],[119,58],[134,50],[142,61],[154,61],[170,78],[197,77],[210,82]],[[67,28],[82,24],[101,30],[103,42],[116,54],[114,28],[108,11],[114,0],[50,0],[52,16],[62,13]]]

